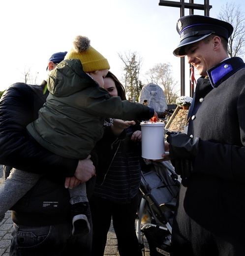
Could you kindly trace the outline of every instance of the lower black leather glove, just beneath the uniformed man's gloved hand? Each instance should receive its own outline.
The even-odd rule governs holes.
[[[188,178],[194,172],[191,160],[171,160],[175,172],[181,176],[182,179]]]

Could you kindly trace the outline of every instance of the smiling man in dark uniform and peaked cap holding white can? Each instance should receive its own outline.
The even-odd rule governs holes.
[[[177,22],[180,43],[197,80],[187,134],[167,132],[182,185],[171,256],[245,255],[245,63],[229,58],[231,24],[189,15]]]

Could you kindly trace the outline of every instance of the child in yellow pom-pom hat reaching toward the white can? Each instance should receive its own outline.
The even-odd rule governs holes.
[[[111,97],[102,88],[103,79],[109,68],[108,61],[92,48],[88,37],[76,36],[73,47],[66,54],[64,61],[49,73],[47,82],[50,94],[39,110],[38,119],[27,126],[31,137],[57,155],[83,160],[90,156],[95,143],[102,138],[105,118],[123,120],[152,118],[156,114],[153,108],[128,100],[122,101],[120,97]],[[131,124],[132,121],[127,121],[128,126]],[[112,123],[110,125],[113,126]],[[22,191],[25,189],[26,192],[39,178],[36,176],[35,180],[32,177],[31,179],[35,180],[33,185],[23,188],[20,178],[23,172],[15,170],[15,173],[19,180],[15,188],[21,188]],[[32,174],[25,175],[26,179],[27,175]],[[72,234],[85,235],[90,232],[86,185],[81,183],[69,192]],[[18,200],[13,198],[16,199]],[[13,205],[15,202],[9,204]]]

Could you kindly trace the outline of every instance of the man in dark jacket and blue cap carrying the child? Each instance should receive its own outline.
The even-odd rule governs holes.
[[[65,54],[60,53],[56,63],[49,61],[48,70],[62,61]],[[0,163],[5,164],[4,176],[8,176],[9,166],[43,174],[11,208],[14,229],[9,255],[16,256],[18,252],[20,256],[67,256],[82,250],[83,256],[90,256],[92,233],[83,237],[71,235],[70,196],[64,188],[64,180],[73,175],[83,182],[88,180],[87,195],[90,197],[97,157],[92,152],[91,159],[63,158],[30,139],[26,126],[37,119],[38,110],[46,101],[45,84],[45,80],[42,86],[16,83],[0,99]],[[89,221],[92,225],[91,214]],[[32,239],[33,235],[36,239]]]

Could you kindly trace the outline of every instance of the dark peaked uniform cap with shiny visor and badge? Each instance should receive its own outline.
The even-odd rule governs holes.
[[[184,46],[198,42],[205,37],[215,34],[224,37],[227,41],[233,32],[230,23],[202,15],[188,15],[180,18],[176,25],[181,41],[173,54],[184,57]]]

